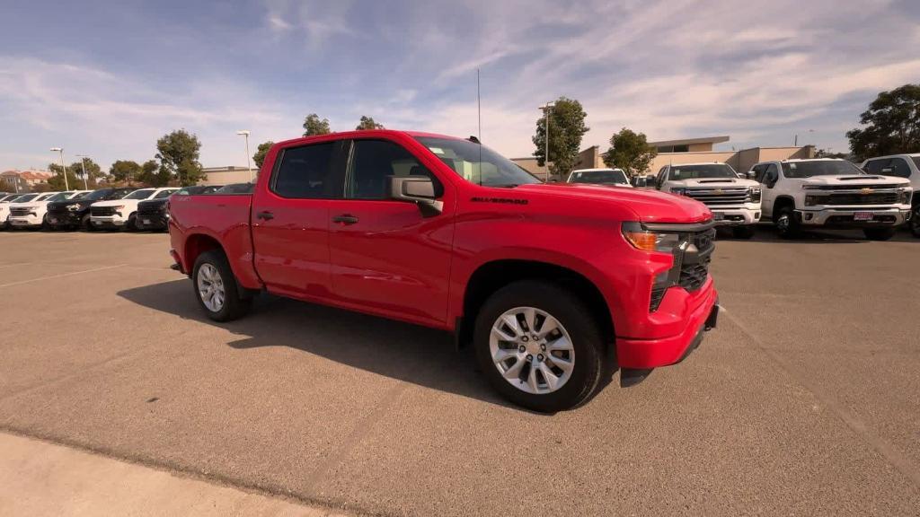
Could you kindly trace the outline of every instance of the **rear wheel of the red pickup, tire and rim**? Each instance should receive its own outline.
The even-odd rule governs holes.
[[[233,270],[220,251],[205,251],[195,260],[191,281],[198,304],[214,321],[238,319],[252,305],[251,299],[240,297]]]

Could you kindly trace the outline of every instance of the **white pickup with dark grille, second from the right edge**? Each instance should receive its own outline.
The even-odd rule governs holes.
[[[784,238],[802,228],[861,228],[888,240],[911,213],[913,189],[904,178],[869,175],[846,160],[778,160],[753,166],[764,186],[764,216]]]

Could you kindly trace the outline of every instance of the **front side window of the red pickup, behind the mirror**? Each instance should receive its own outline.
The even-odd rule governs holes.
[[[351,149],[346,197],[357,200],[383,200],[391,176],[424,176],[438,180],[401,145],[385,140],[355,140]],[[439,194],[440,195],[440,194]]]

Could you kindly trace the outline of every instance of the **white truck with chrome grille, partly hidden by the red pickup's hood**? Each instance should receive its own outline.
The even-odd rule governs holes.
[[[667,165],[655,178],[655,187],[702,201],[719,226],[730,226],[734,236],[751,238],[760,221],[760,183],[739,178],[728,164]]]

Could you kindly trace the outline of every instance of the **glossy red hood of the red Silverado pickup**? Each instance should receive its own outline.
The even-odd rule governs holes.
[[[700,223],[712,219],[712,213],[705,204],[658,190],[620,189],[580,183],[536,183],[522,185],[510,192],[569,198],[573,201],[599,201],[631,213],[628,219],[643,223]],[[625,221],[628,219],[624,218]]]

